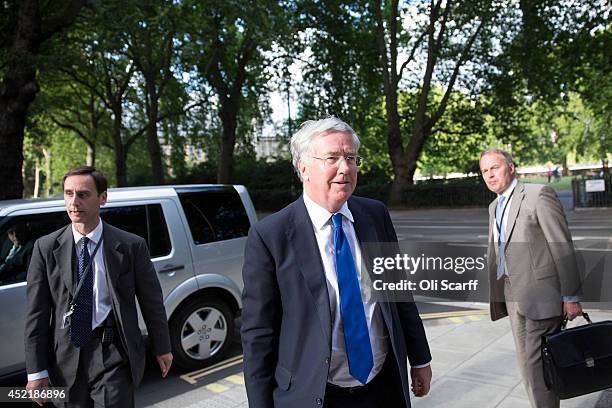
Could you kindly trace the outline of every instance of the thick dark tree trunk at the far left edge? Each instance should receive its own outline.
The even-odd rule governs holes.
[[[0,200],[23,194],[23,133],[28,108],[38,92],[34,60],[40,46],[40,24],[38,1],[23,0],[0,83]]]

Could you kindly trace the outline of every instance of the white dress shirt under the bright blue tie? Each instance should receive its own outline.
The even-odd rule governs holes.
[[[304,192],[304,204],[312,225],[314,227],[315,238],[319,246],[325,280],[327,283],[327,293],[329,295],[329,306],[332,316],[332,352],[329,366],[328,381],[341,387],[354,387],[362,385],[353,378],[349,372],[348,359],[346,356],[346,346],[344,343],[344,329],[342,316],[340,314],[340,296],[338,292],[338,277],[336,276],[336,258],[334,255],[333,226],[331,216],[333,215],[325,208],[321,207]],[[374,378],[382,369],[385,357],[389,348],[387,333],[383,327],[380,306],[374,301],[371,295],[371,285],[367,274],[364,276],[361,267],[361,247],[353,228],[353,214],[344,203],[338,211],[342,214],[342,229],[346,235],[351,253],[355,260],[357,278],[361,288],[361,300],[363,301],[366,322],[372,345],[372,355],[374,357],[374,367],[368,376],[368,382]]]

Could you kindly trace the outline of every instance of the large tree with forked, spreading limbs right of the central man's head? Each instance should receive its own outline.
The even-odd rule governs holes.
[[[371,3],[371,13],[376,21],[387,116],[387,144],[394,174],[390,203],[398,204],[403,189],[413,182],[423,147],[446,111],[451,94],[460,80],[461,69],[468,61],[477,62],[477,55],[487,55],[490,44],[483,32],[491,25],[495,10],[487,1],[468,4],[432,0],[425,10],[420,10],[420,13],[428,16],[428,21],[412,33],[406,32],[406,24],[402,24],[398,0],[384,5],[382,0],[374,1]],[[402,41],[406,44],[406,37],[411,37],[411,48],[400,65],[400,47]],[[424,47],[426,55],[422,74],[416,81],[418,99],[411,112],[412,129],[406,143],[401,134],[398,88],[410,64],[418,62],[415,58],[421,47]],[[477,84],[473,75],[470,78]],[[436,80],[445,88],[438,102],[433,101],[432,94]],[[463,81],[462,85],[471,91],[476,88],[470,86],[468,81]]]

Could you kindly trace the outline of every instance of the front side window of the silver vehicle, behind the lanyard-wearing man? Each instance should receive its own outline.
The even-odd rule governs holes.
[[[0,224],[0,285],[24,282],[34,242],[69,223],[64,210],[3,219]]]

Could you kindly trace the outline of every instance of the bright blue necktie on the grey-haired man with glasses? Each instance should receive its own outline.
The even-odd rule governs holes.
[[[374,367],[374,357],[361,301],[357,270],[351,247],[342,230],[342,214],[334,214],[332,224],[334,226],[336,275],[340,292],[340,313],[344,326],[344,344],[346,345],[349,372],[355,379],[365,384]]]

